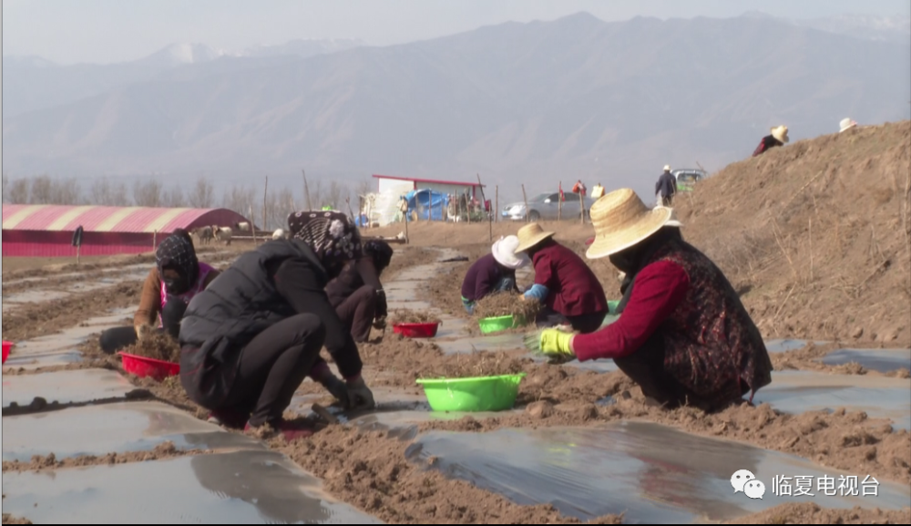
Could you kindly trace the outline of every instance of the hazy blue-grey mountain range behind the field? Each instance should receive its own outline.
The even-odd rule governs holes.
[[[3,169],[481,173],[513,197],[520,182],[580,178],[650,195],[664,164],[721,168],[773,125],[796,140],[844,117],[907,119],[911,36],[860,26],[872,27],[579,14],[402,46],[303,41],[230,56],[181,45],[109,66],[5,57]],[[884,27],[875,35],[895,34]]]

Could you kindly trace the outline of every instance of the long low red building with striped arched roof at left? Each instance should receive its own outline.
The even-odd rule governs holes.
[[[178,228],[246,222],[223,208],[3,205],[4,257],[75,256],[73,233],[82,226],[82,255],[146,253]]]

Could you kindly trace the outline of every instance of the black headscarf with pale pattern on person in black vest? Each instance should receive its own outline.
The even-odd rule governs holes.
[[[327,266],[358,259],[363,253],[361,233],[340,211],[294,212],[288,216],[288,229]]]

